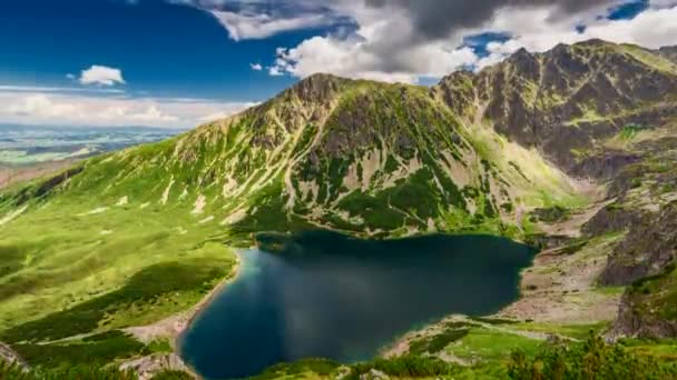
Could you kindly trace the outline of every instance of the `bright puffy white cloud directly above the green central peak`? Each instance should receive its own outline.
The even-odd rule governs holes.
[[[361,2],[343,9],[359,28],[349,38],[317,36],[291,49],[277,49],[271,72],[304,78],[330,72],[350,78],[389,82],[416,82],[419,77],[441,77],[478,58],[469,48],[450,41],[412,41],[413,26],[398,10],[383,17],[380,9]]]

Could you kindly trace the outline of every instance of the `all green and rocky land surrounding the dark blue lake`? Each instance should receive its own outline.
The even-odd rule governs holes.
[[[262,232],[477,233],[541,250],[519,300],[393,337],[371,362],[262,377],[557,378],[548,358],[569,373],[593,351],[614,359],[590,366],[673,378],[676,51],[519,50],[430,88],[318,73],[234,117],[3,189],[0,354],[190,377],[176,338]]]

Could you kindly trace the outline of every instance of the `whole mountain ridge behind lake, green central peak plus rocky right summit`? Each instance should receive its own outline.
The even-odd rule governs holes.
[[[677,64],[600,40],[520,50],[430,90],[316,74],[233,118],[90,160],[60,191],[194,203],[245,231],[517,236],[522,210],[577,201],[569,176],[632,162],[599,142],[676,116],[676,87]]]

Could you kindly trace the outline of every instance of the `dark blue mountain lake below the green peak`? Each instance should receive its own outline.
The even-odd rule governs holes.
[[[207,379],[253,376],[303,358],[370,359],[451,313],[482,316],[518,296],[531,248],[487,236],[359,240],[311,231],[262,236],[238,277],[180,339]]]

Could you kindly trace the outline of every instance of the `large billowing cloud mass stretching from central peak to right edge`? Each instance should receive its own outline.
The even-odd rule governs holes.
[[[544,51],[590,38],[650,48],[674,44],[677,1],[654,0],[630,20],[606,16],[626,0],[343,0],[324,2],[354,20],[350,33],[326,33],[279,48],[272,76],[331,72],[352,78],[416,82],[459,68],[493,64],[520,48]],[[384,17],[386,14],[386,17]],[[581,28],[585,26],[585,28]],[[582,31],[581,31],[582,29]],[[468,36],[498,32],[478,56]]]

